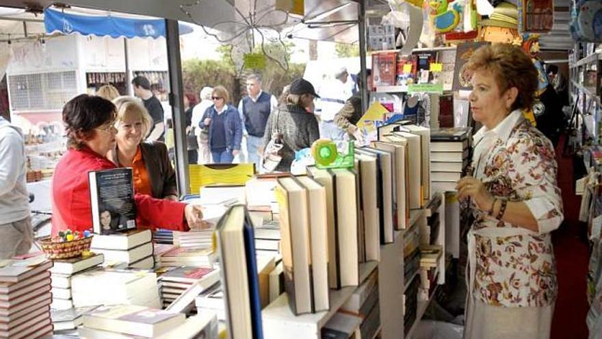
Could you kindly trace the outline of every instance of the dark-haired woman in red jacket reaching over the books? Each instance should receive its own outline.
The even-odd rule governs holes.
[[[68,151],[55,168],[52,181],[52,234],[62,229],[92,229],[88,172],[116,168],[105,158],[115,147],[116,108],[101,97],[79,95],[63,108]],[[135,194],[139,225],[161,225],[187,231],[205,228],[199,206]]]

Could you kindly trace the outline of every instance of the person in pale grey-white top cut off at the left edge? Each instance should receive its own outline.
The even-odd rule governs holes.
[[[0,259],[28,253],[33,241],[23,134],[0,116]]]

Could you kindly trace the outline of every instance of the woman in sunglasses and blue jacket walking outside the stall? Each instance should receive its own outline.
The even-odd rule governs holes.
[[[209,149],[214,164],[231,164],[240,151],[242,123],[238,110],[228,105],[228,90],[215,86],[211,93],[213,105],[205,110],[198,127],[209,133]]]

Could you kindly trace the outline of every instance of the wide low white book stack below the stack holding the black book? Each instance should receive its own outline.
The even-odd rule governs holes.
[[[126,304],[161,308],[157,275],[146,271],[85,271],[71,279],[71,294],[75,307]]]

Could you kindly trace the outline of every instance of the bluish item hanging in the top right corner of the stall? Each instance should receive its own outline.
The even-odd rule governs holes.
[[[602,42],[602,2],[573,0],[571,36],[579,42]]]

